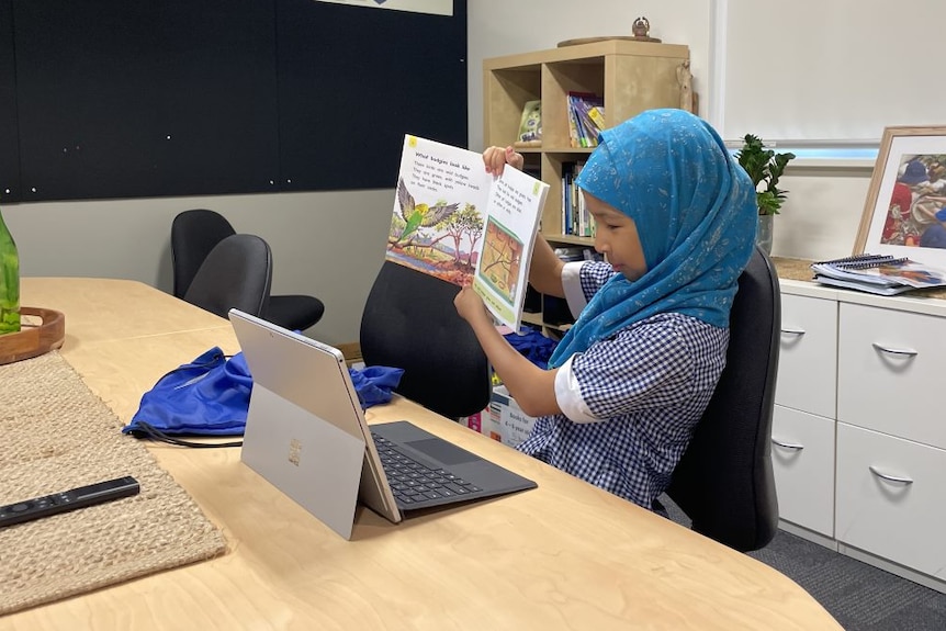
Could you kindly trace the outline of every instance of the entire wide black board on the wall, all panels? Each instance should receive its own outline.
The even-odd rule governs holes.
[[[465,144],[465,0],[0,0],[0,180],[22,201],[393,187],[405,132]]]

